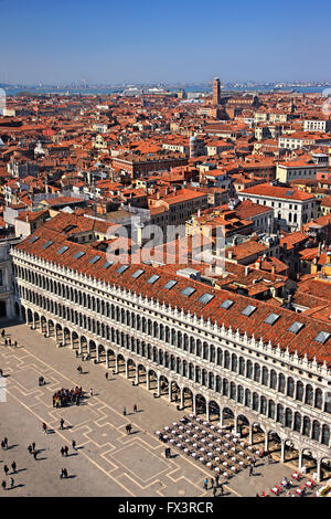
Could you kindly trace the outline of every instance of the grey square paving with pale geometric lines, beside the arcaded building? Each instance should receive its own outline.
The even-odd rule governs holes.
[[[81,362],[68,347],[56,348],[52,338],[44,338],[26,325],[12,322],[6,327],[8,337],[18,347],[6,347],[0,340],[0,368],[7,385],[7,402],[0,402],[0,437],[9,438],[8,451],[0,452],[0,479],[3,465],[12,460],[18,473],[12,475],[15,487],[0,492],[2,496],[120,496],[120,497],[200,497],[212,496],[203,490],[205,477],[212,473],[199,463],[174,452],[164,457],[164,444],[154,431],[183,416],[167,398],[153,399],[152,391],[132,386],[124,375],[105,378],[105,364]],[[81,363],[86,373],[76,371]],[[39,386],[43,375],[46,385]],[[52,395],[61,388],[82,385],[87,396],[79,406],[54,409]],[[138,412],[134,413],[134,404]],[[122,407],[127,416],[122,415]],[[61,417],[65,428],[60,431]],[[53,432],[44,434],[42,422]],[[132,432],[125,426],[131,423]],[[72,439],[79,447],[74,452]],[[36,443],[38,460],[29,455],[28,446]],[[70,456],[60,454],[68,445]],[[60,479],[62,467],[67,479]],[[234,476],[225,486],[227,496],[255,496],[271,485],[289,477],[295,465],[279,463],[256,465],[256,475],[248,469]],[[7,483],[9,484],[9,478]],[[311,494],[311,492],[310,492]]]

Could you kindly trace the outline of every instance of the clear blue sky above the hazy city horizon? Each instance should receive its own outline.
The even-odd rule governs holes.
[[[330,0],[0,0],[0,82],[331,80]]]

